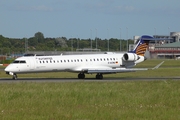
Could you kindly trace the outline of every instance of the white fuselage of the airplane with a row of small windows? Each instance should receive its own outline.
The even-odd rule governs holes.
[[[17,58],[5,68],[11,73],[109,70],[112,68],[127,68],[144,61],[123,61],[124,54],[90,54],[90,55],[58,55],[58,56],[23,56]]]

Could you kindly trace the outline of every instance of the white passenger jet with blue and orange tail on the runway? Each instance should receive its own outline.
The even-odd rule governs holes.
[[[103,79],[103,74],[147,70],[132,67],[146,60],[145,52],[151,40],[156,39],[148,35],[141,36],[134,50],[126,53],[52,56],[27,54],[15,59],[5,68],[5,72],[12,75],[14,80],[21,73],[62,71],[76,72],[79,79],[84,79],[85,74],[95,73],[96,79]]]

